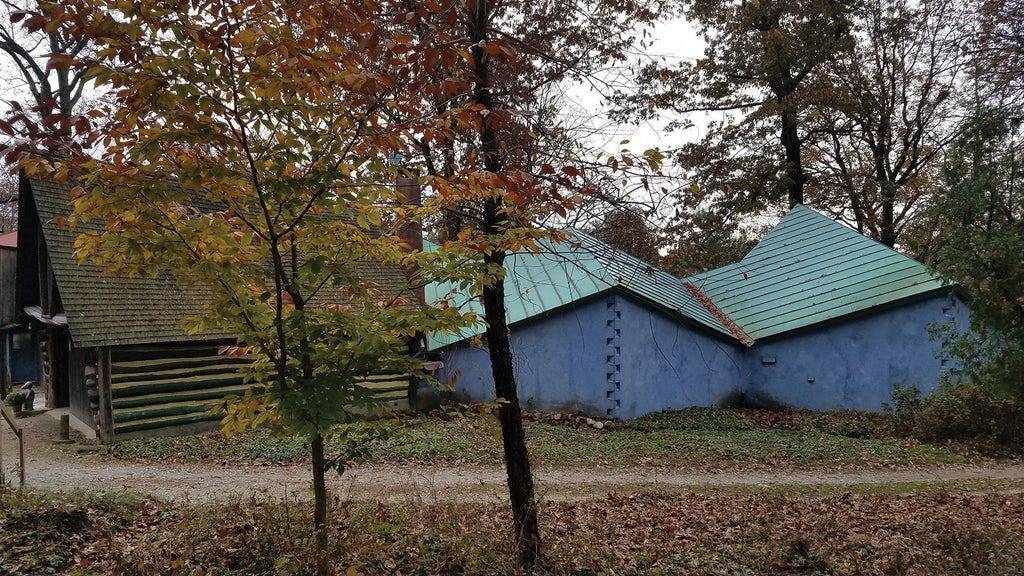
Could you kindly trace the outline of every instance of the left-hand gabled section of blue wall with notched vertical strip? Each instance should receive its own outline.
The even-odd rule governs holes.
[[[614,293],[514,327],[512,352],[524,408],[616,418],[718,404],[743,366],[738,345]],[[437,377],[460,398],[494,399],[485,348],[462,344],[442,360]]]

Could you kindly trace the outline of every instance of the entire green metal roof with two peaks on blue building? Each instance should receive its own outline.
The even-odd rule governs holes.
[[[506,259],[509,324],[621,288],[751,345],[903,298],[948,289],[927,266],[817,212],[797,206],[740,261],[678,279],[577,231],[540,253]],[[477,312],[477,298],[451,285],[427,287],[427,300],[454,294]],[[431,347],[483,331],[433,335]]]

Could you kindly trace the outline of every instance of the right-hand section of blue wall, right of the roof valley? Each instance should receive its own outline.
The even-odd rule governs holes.
[[[967,305],[933,296],[839,324],[810,327],[746,351],[746,395],[753,402],[811,410],[873,410],[892,402],[894,384],[930,392],[943,370],[932,325],[968,327]],[[938,353],[938,354],[936,354]]]

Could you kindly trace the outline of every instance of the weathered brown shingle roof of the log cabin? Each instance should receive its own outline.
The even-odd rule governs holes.
[[[71,186],[32,178],[29,194],[39,214],[57,290],[76,346],[112,346],[216,340],[222,332],[189,336],[180,321],[205,313],[209,291],[179,285],[169,273],[156,278],[100,276],[98,266],[79,263],[75,235],[57,223],[67,218]],[[386,292],[407,284],[397,266],[360,262],[360,277]]]

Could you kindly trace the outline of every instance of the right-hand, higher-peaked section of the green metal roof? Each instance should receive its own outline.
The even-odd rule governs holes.
[[[740,261],[684,282],[753,339],[945,286],[921,262],[804,206]]]

